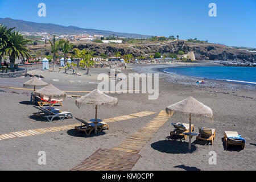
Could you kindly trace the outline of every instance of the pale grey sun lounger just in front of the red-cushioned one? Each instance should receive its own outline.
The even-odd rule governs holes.
[[[40,110],[39,113],[34,113],[36,117],[47,118],[49,122],[52,122],[55,118],[60,118],[63,121],[65,118],[73,118],[72,114],[67,111],[60,111],[53,113],[50,110],[45,109],[44,107],[34,106],[36,109]]]

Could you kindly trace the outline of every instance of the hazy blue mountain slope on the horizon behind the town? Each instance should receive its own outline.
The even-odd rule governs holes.
[[[16,30],[23,32],[48,32],[49,34],[89,34],[89,35],[115,35],[119,37],[125,38],[150,38],[148,35],[140,35],[140,34],[129,34],[129,33],[121,33],[121,32],[113,32],[106,30],[94,30],[88,28],[79,28],[75,26],[61,26],[52,23],[34,23],[27,22],[24,20],[15,20],[11,18],[0,18],[0,23],[5,24],[7,27],[16,27]]]

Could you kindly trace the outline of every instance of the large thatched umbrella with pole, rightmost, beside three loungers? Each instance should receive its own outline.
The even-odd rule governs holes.
[[[210,107],[197,101],[193,97],[177,102],[176,104],[170,105],[166,108],[167,113],[173,115],[174,113],[189,115],[189,150],[191,150],[191,125],[192,115],[195,117],[213,117],[213,112]]]

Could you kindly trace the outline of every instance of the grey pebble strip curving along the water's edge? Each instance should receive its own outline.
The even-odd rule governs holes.
[[[172,84],[181,84],[186,86],[194,86],[196,88],[204,88],[206,90],[212,91],[216,88],[222,90],[256,90],[255,85],[246,85],[246,84],[238,84],[228,81],[218,81],[218,80],[210,80],[204,79],[205,84],[197,84],[196,82],[202,80],[202,78],[190,77],[184,75],[177,75],[163,72],[163,69],[170,67],[184,67],[185,65],[142,65],[134,68],[134,71],[138,73],[159,73],[159,78],[163,78],[167,82],[171,82]],[[203,66],[203,65],[200,65]]]

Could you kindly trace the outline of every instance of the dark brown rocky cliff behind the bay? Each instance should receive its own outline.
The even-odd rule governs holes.
[[[131,53],[135,57],[150,55],[155,52],[177,53],[181,50],[185,53],[193,51],[195,53],[196,60],[224,60],[238,61],[240,63],[256,63],[256,53],[253,52],[241,51],[236,48],[219,46],[217,44],[194,44],[182,40],[172,42],[170,44],[164,44],[163,46],[139,45],[127,47],[126,45],[118,44],[86,43],[77,45],[76,48],[86,48],[96,51],[96,55],[105,54],[108,56],[114,56],[114,52],[119,51],[122,55]]]

